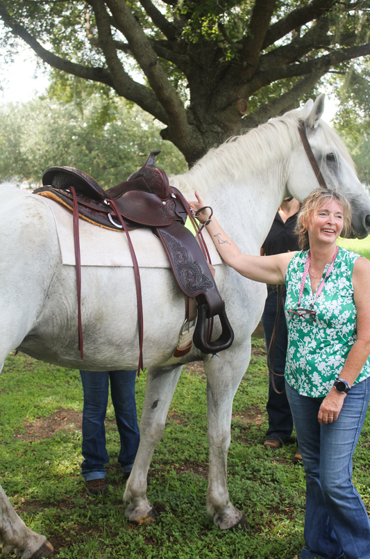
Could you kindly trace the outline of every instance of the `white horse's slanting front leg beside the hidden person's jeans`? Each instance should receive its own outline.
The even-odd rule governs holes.
[[[146,476],[155,446],[165,429],[169,405],[182,368],[180,365],[170,370],[162,367],[148,370],[140,421],[140,445],[124,492],[124,500],[130,501],[126,508],[126,517],[138,524],[155,522],[157,517],[146,497]]]

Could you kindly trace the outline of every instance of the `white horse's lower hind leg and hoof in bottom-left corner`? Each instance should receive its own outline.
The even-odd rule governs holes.
[[[27,528],[10,504],[0,485],[0,549],[3,554],[13,551],[17,557],[38,559],[49,557],[53,546],[47,538]]]

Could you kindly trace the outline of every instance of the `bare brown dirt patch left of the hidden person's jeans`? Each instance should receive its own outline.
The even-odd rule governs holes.
[[[51,439],[58,431],[82,430],[82,412],[64,410],[62,407],[54,414],[37,418],[34,423],[24,422],[26,434],[15,433],[21,441],[40,441]]]

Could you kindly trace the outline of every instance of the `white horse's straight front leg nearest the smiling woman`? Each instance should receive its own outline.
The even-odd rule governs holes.
[[[208,513],[214,515],[213,522],[221,530],[248,528],[242,512],[230,502],[227,487],[227,455],[233,398],[249,363],[250,344],[249,348],[243,349],[240,359],[233,359],[232,352],[231,355],[222,355],[222,364],[214,360],[210,363],[209,359],[205,363],[210,447]],[[218,361],[221,361],[221,358]]]

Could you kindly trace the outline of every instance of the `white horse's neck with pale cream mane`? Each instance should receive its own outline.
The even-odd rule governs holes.
[[[292,152],[299,143],[296,115],[276,118],[211,149],[190,171],[172,177],[171,184],[187,200],[199,190],[239,248],[256,252],[288,194]]]

